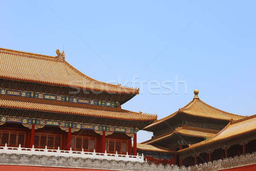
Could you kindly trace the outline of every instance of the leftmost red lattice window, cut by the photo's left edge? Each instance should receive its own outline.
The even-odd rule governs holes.
[[[23,132],[7,132],[0,131],[1,145],[7,144],[7,146],[18,147],[19,144],[23,147],[25,143],[25,135]]]

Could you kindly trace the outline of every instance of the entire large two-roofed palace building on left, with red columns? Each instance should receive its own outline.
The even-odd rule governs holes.
[[[94,80],[56,53],[0,48],[1,146],[132,155],[131,138],[157,119],[121,108],[139,89]]]

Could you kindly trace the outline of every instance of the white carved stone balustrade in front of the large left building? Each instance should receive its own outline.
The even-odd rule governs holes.
[[[66,150],[60,150],[58,147],[58,150],[52,150],[47,149],[47,146],[45,146],[44,149],[42,148],[34,148],[34,145],[32,148],[22,148],[20,145],[18,148],[16,147],[7,147],[5,145],[4,147],[0,147],[0,154],[27,154],[27,155],[45,155],[45,156],[55,156],[55,157],[81,157],[81,158],[90,158],[90,159],[107,159],[107,160],[116,160],[116,161],[125,161],[125,162],[144,162],[143,154],[139,156],[131,156],[126,153],[126,155],[122,154],[107,154],[107,151],[105,153],[96,153],[95,150],[93,152],[85,152],[84,149],[82,151],[72,151],[70,148],[70,151]]]

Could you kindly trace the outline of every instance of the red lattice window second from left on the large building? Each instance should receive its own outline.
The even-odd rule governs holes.
[[[36,133],[34,136],[35,148],[57,149],[61,148],[61,135]]]

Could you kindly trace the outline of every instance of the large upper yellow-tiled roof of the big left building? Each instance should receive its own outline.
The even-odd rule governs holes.
[[[90,78],[64,59],[3,48],[0,48],[0,78],[104,92],[139,93],[139,89],[107,84]]]

